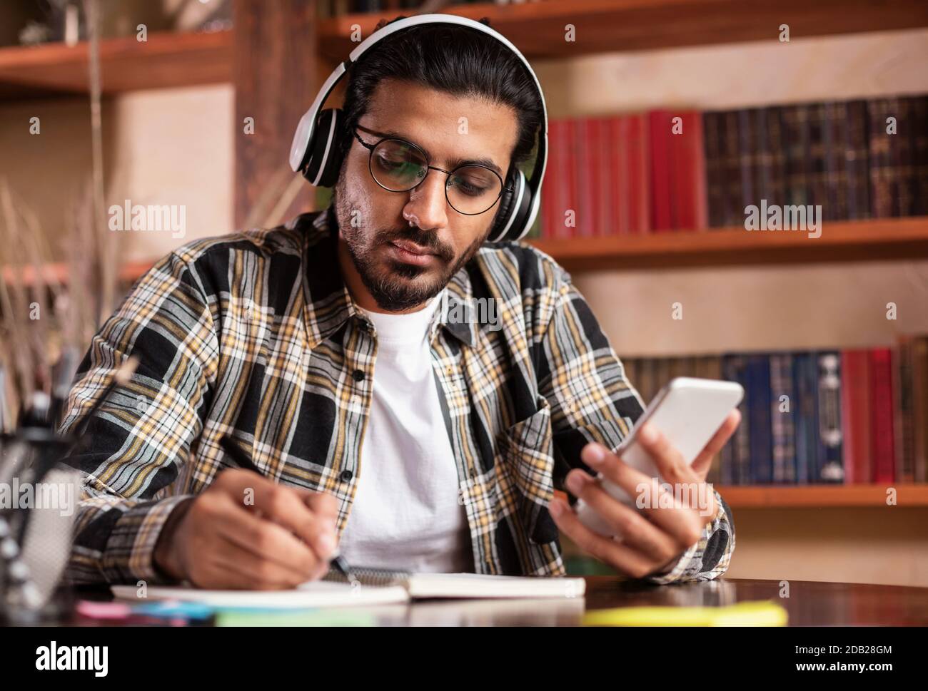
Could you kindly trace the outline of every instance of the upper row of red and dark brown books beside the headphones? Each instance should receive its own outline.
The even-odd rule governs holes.
[[[529,236],[742,227],[765,199],[824,221],[928,214],[928,96],[552,120]]]

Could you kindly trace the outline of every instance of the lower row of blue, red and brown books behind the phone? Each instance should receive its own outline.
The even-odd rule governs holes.
[[[674,377],[737,381],[721,485],[928,481],[928,336],[895,348],[623,358],[647,403]]]

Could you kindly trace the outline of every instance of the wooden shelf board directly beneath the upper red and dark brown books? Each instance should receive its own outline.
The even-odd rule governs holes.
[[[568,271],[923,259],[928,257],[928,216],[826,221],[820,237],[793,230],[727,228],[524,241]]]

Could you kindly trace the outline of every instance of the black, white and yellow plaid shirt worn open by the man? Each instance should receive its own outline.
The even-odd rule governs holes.
[[[344,285],[335,228],[329,209],[187,243],[101,326],[62,431],[86,416],[124,358],[140,364],[71,457],[85,476],[72,582],[165,582],[152,562],[161,526],[226,467],[226,433],[265,476],[334,495],[344,530],[363,472],[377,334]],[[572,467],[592,473],[580,460],[588,441],[616,448],[643,409],[586,300],[544,252],[485,243],[452,277],[428,338],[475,571],[564,575],[548,502]],[[710,580],[728,569],[733,521],[715,496],[701,540],[647,580]]]

